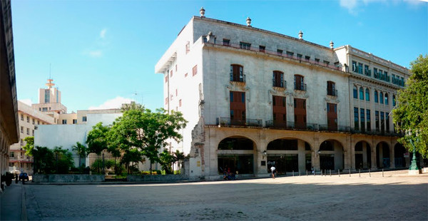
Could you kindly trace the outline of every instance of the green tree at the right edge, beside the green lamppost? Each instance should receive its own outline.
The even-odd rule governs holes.
[[[404,90],[397,96],[397,108],[393,110],[394,124],[398,130],[420,130],[419,142],[415,143],[416,151],[424,158],[428,156],[428,56],[420,55],[410,63],[410,77],[406,81]],[[406,148],[412,151],[409,138],[399,138]]]

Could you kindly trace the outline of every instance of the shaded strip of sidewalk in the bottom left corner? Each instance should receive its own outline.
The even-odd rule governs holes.
[[[12,180],[12,184],[0,194],[0,213],[0,220],[26,220],[22,182]]]

